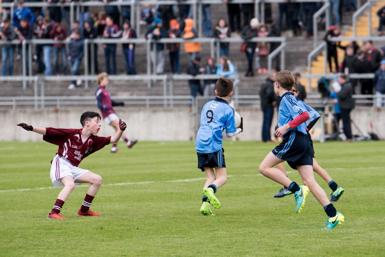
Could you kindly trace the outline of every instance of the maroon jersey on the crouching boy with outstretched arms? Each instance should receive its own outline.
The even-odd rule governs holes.
[[[82,140],[82,129],[45,128],[43,140],[59,146],[57,154],[63,156],[72,165],[78,166],[80,161],[91,153],[102,149],[110,143],[111,137],[95,136],[92,134],[87,140]],[[52,161],[51,161],[52,163]]]

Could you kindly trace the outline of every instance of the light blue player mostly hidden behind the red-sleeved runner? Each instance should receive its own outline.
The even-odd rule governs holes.
[[[313,140],[311,140],[311,136],[309,133],[310,129],[313,128],[313,126],[318,121],[318,119],[320,119],[321,115],[315,109],[308,106],[305,102],[298,99],[298,95],[300,93],[298,91],[298,85],[297,84],[293,85],[293,88],[291,89],[290,92],[294,93],[294,97],[298,101],[298,105],[300,105],[303,109],[305,109],[310,116],[310,118],[308,120],[309,124],[307,126],[306,126],[306,123],[304,123],[304,124],[306,126],[307,136],[308,136],[308,139],[310,142],[311,150],[313,152],[311,155],[313,157],[313,171],[315,171],[318,175],[321,176],[321,178],[323,178],[323,180],[325,180],[328,183],[328,186],[330,187],[330,189],[332,191],[330,194],[330,202],[336,202],[341,197],[344,190],[343,190],[343,188],[338,186],[338,184],[334,180],[331,179],[331,177],[326,172],[326,170],[324,170],[315,160]],[[283,164],[280,164],[280,167],[278,167],[278,168],[281,171],[283,171],[283,173],[286,175],[286,169],[285,169],[285,166],[283,166]],[[287,188],[281,188],[279,193],[276,194],[274,197],[285,197],[286,195],[290,195],[290,194],[291,194],[291,192]]]

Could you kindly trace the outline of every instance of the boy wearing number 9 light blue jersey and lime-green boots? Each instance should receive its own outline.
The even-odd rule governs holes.
[[[234,109],[228,104],[233,95],[233,86],[233,81],[230,79],[219,79],[215,90],[217,97],[207,102],[201,112],[201,126],[196,135],[195,148],[198,155],[198,168],[205,171],[207,177],[202,191],[203,203],[200,212],[203,215],[214,215],[211,212],[210,203],[216,209],[221,208],[221,203],[214,193],[226,183],[222,133],[226,129],[226,136],[231,138],[243,131],[243,118],[239,128],[236,128]]]

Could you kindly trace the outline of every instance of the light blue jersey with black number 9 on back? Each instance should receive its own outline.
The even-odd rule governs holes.
[[[226,100],[216,97],[207,102],[201,113],[201,126],[196,135],[195,148],[198,153],[214,153],[222,149],[222,133],[234,133],[234,109]]]

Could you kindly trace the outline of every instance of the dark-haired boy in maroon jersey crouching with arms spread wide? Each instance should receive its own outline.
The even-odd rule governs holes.
[[[65,200],[75,186],[80,183],[90,183],[83,204],[77,212],[79,216],[100,216],[100,213],[92,212],[90,205],[102,184],[102,177],[78,167],[80,161],[90,154],[102,149],[109,143],[116,143],[121,138],[123,131],[127,128],[126,123],[119,120],[119,131],[114,136],[96,136],[100,129],[100,114],[85,112],[80,117],[82,129],[57,129],[57,128],[34,128],[25,123],[17,126],[25,130],[33,131],[43,135],[43,140],[59,146],[59,149],[51,161],[51,180],[55,187],[64,185],[56,199],[52,211],[47,218],[64,218],[60,215]]]

